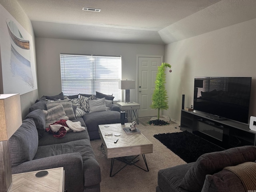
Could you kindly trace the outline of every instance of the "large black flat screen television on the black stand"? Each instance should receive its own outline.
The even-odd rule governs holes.
[[[217,120],[248,124],[251,77],[196,77],[194,110]]]

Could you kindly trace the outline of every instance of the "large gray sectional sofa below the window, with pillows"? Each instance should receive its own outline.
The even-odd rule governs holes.
[[[100,166],[90,140],[99,138],[98,124],[120,123],[120,109],[111,104],[109,110],[83,113],[76,110],[76,103],[70,98],[62,93],[44,96],[30,107],[22,125],[9,140],[12,174],[64,167],[68,192],[100,192]],[[61,138],[45,131],[54,120],[67,118],[80,122],[85,130],[68,131]]]

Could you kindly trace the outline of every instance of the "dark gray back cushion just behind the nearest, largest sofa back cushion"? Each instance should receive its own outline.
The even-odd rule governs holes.
[[[44,135],[45,127],[46,127],[46,121],[45,121],[45,116],[44,112],[41,109],[36,109],[32,112],[30,112],[25,119],[32,118],[35,122],[36,129],[38,132],[38,138],[42,138]]]

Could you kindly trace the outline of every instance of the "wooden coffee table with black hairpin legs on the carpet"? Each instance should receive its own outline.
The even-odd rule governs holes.
[[[104,146],[107,158],[112,158],[111,168],[110,168],[110,177],[117,174],[128,164],[134,165],[144,171],[148,171],[148,165],[146,162],[145,154],[153,152],[153,144],[142,134],[126,134],[124,132],[124,127],[130,127],[130,123],[125,123],[124,125],[117,124],[104,124],[99,125],[99,134],[102,140],[102,145]],[[120,134],[120,136],[115,136]],[[118,142],[114,141],[118,139]],[[146,169],[143,169],[137,166],[134,162],[139,155],[142,155],[143,160],[146,165]],[[135,156],[131,160],[127,160],[126,156]],[[126,165],[118,170],[115,174],[112,174],[114,160],[120,160]]]

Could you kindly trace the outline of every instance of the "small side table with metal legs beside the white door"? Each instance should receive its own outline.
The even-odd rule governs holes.
[[[122,111],[127,110],[127,112],[129,111],[131,120],[135,117],[137,124],[139,124],[139,120],[138,120],[138,109],[140,109],[140,104],[136,103],[136,102],[117,102],[116,103],[120,109]]]

